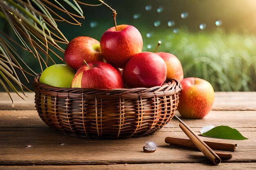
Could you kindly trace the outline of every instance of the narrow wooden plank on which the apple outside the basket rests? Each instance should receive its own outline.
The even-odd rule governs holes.
[[[176,113],[179,116],[179,113]],[[233,128],[256,128],[256,111],[211,111],[203,119],[182,120],[191,128],[202,128],[207,125],[227,125]],[[173,118],[166,128],[178,127],[179,122]],[[36,110],[0,110],[0,127],[45,127]]]

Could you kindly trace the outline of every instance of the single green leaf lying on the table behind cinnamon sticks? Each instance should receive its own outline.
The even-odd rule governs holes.
[[[238,130],[234,128],[230,128],[229,126],[217,126],[212,128],[208,132],[201,134],[204,137],[213,137],[219,139],[236,139],[236,140],[244,140],[248,139],[243,137]]]

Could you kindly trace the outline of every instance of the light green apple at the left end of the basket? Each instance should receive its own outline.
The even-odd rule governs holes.
[[[54,87],[70,88],[76,72],[65,64],[54,64],[45,68],[39,82]]]

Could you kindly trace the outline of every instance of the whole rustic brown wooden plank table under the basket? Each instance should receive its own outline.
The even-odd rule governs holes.
[[[256,92],[216,92],[213,110],[204,119],[183,119],[198,134],[203,126],[227,125],[249,138],[201,137],[238,144],[235,152],[230,152],[233,158],[218,166],[209,163],[197,150],[169,146],[164,142],[165,137],[187,138],[176,119],[145,137],[83,139],[60,135],[45,125],[35,110],[33,93],[27,93],[26,101],[12,96],[13,107],[7,94],[0,93],[1,170],[256,169]],[[149,139],[158,145],[154,153],[143,152],[142,147]]]

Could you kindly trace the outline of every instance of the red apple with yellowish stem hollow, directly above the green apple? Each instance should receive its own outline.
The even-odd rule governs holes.
[[[64,53],[65,63],[78,70],[86,62],[103,61],[103,55],[100,52],[100,43],[90,37],[76,37],[71,40]]]

